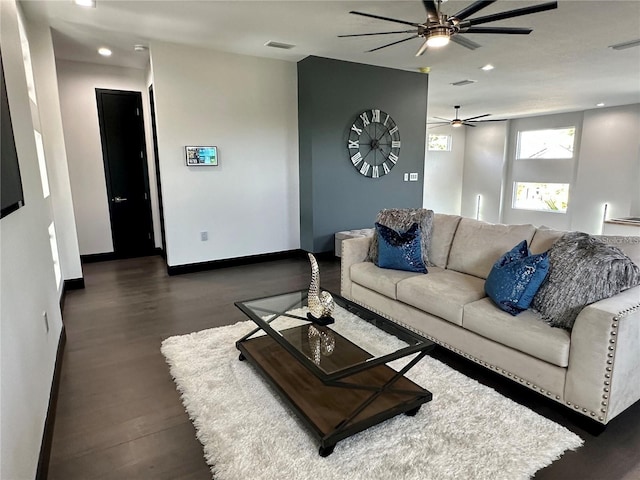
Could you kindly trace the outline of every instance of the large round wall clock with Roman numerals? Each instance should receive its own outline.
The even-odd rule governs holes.
[[[351,163],[361,175],[380,178],[398,162],[400,131],[388,113],[366,110],[351,125],[347,148]]]

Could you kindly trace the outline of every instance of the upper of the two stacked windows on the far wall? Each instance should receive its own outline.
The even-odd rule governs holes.
[[[573,158],[575,127],[518,132],[516,159]]]

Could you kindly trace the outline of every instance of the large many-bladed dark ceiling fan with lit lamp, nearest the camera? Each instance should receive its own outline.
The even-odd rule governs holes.
[[[429,47],[442,47],[452,42],[458,43],[467,48],[477,48],[477,45],[472,42],[472,45],[468,45],[468,40],[458,37],[459,34],[466,33],[499,33],[507,35],[528,35],[533,30],[530,28],[515,28],[515,27],[477,27],[483,23],[496,22],[498,20],[505,20],[507,18],[519,17],[522,15],[529,15],[532,13],[544,12],[546,10],[553,10],[558,8],[558,2],[547,2],[539,5],[532,5],[530,7],[517,8],[515,10],[507,10],[506,12],[494,13],[492,15],[486,15],[484,17],[468,18],[474,13],[488,7],[496,0],[479,0],[466,8],[463,8],[459,12],[453,15],[447,15],[440,11],[443,0],[422,0],[425,10],[427,11],[427,19],[423,22],[408,22],[405,20],[398,20],[396,18],[383,17],[380,15],[373,15],[371,13],[355,12],[349,13],[354,15],[361,15],[363,17],[376,18],[378,20],[386,20],[387,22],[400,23],[403,25],[410,25],[412,30],[396,30],[392,32],[376,32],[376,33],[358,33],[351,35],[338,35],[338,37],[364,37],[370,35],[389,35],[396,33],[413,33],[414,35],[403,38],[395,42],[387,43],[381,47],[372,48],[367,52],[375,52],[382,48],[387,48],[398,43],[406,42],[413,38],[422,38],[424,43],[416,53],[416,57],[422,55]]]

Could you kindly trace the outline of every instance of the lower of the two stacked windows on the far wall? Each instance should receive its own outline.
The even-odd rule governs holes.
[[[568,202],[568,183],[513,183],[513,208],[565,213]]]

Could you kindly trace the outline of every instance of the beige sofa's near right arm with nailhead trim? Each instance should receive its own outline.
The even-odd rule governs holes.
[[[640,399],[640,287],[582,309],[571,332],[564,397],[601,423]]]

